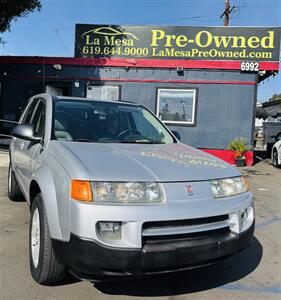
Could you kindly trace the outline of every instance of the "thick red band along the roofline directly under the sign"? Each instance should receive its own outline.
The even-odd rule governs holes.
[[[231,60],[176,60],[176,59],[126,59],[126,58],[70,58],[40,56],[0,56],[0,63],[63,64],[78,66],[112,66],[135,68],[186,68],[240,70],[241,61]],[[279,62],[260,62],[260,70],[278,71]]]

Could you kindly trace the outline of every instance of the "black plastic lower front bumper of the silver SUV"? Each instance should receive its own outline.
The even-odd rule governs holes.
[[[175,271],[219,261],[245,248],[254,234],[254,222],[241,234],[229,230],[205,235],[144,242],[143,247],[108,247],[71,234],[69,242],[52,240],[58,261],[84,279]]]

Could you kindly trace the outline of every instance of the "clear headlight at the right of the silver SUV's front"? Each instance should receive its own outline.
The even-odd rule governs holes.
[[[229,197],[249,191],[244,177],[211,180],[210,184],[214,198]]]

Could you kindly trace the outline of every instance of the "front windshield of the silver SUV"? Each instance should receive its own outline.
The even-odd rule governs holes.
[[[52,138],[97,143],[174,143],[171,134],[147,109],[91,100],[55,101]]]

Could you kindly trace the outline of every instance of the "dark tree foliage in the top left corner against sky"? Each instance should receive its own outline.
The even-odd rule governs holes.
[[[30,12],[40,9],[40,0],[0,0],[0,32],[10,30],[11,22],[17,18],[26,17]]]

